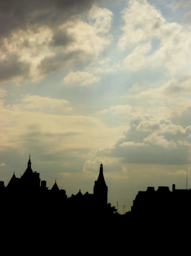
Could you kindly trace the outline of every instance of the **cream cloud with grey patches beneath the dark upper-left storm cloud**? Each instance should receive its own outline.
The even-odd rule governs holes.
[[[6,36],[0,46],[0,81],[36,81],[96,59],[110,44],[112,12],[93,5],[89,15],[89,23],[78,16],[60,23],[57,29],[38,24],[35,30],[17,29]]]

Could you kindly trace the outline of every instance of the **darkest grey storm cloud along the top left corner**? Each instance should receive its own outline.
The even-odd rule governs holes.
[[[0,35],[38,25],[57,26],[90,9],[95,0],[0,0]]]

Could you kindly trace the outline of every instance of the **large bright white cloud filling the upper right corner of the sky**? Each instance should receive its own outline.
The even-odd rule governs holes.
[[[118,46],[134,48],[124,59],[124,65],[138,71],[161,66],[176,74],[188,69],[191,58],[191,32],[178,23],[168,22],[160,10],[147,0],[130,0],[123,10],[123,34]],[[156,42],[156,40],[158,42]],[[157,50],[155,49],[157,46]]]

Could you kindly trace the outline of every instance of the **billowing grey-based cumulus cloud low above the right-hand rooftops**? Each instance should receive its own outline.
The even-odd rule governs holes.
[[[171,123],[170,118],[134,117],[112,147],[97,152],[98,156],[119,157],[122,162],[155,164],[191,163],[191,126]]]

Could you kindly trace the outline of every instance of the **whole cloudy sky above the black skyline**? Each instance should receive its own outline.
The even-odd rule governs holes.
[[[0,180],[31,167],[68,196],[102,162],[123,213],[191,188],[191,0],[0,0]]]

